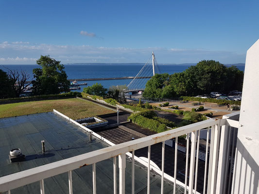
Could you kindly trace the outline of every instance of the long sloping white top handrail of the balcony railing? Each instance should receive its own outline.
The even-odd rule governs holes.
[[[219,123],[219,119],[209,119],[198,123],[193,123],[188,126],[183,126],[177,129],[172,129],[151,136],[143,137],[134,141],[125,142],[119,145],[110,146],[86,154],[78,155],[72,158],[64,159],[62,161],[52,162],[29,170],[7,175],[0,178],[0,192],[12,190],[17,187],[65,173],[69,170],[74,170],[85,165],[101,162],[120,154],[151,146],[168,139],[190,133],[191,131],[204,129]]]

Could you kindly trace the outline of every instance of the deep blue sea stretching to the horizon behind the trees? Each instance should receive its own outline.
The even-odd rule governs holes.
[[[64,65],[68,79],[89,79],[89,78],[119,78],[119,77],[135,77],[145,64],[69,64]],[[181,64],[181,65],[164,65],[160,64],[159,70],[161,73],[174,74],[183,72],[191,65],[196,64]],[[231,65],[226,65],[231,66]],[[244,64],[238,64],[237,67],[244,71]],[[12,70],[25,70],[30,74],[30,80],[33,79],[33,69],[40,68],[39,65],[0,65],[0,69],[7,71],[6,68]],[[127,80],[100,80],[100,81],[78,81],[78,83],[87,82],[87,85],[82,85],[80,90],[72,90],[82,92],[84,87],[91,86],[95,83],[101,83],[104,88],[109,88],[113,85],[128,85],[132,79]]]

